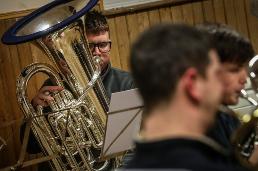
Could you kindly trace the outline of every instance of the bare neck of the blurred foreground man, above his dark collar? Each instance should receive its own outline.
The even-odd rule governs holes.
[[[207,124],[203,121],[203,111],[187,98],[178,97],[166,106],[158,106],[148,113],[143,135],[146,139],[167,139],[203,135]]]

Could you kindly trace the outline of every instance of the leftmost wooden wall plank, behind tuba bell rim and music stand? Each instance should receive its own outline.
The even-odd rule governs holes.
[[[4,21],[0,21],[0,35],[3,35],[5,32],[5,23]],[[4,65],[5,63],[9,63],[9,59],[6,59],[6,56],[10,56],[9,53],[9,47],[7,45],[3,45],[2,42],[0,43],[0,125],[4,123],[10,122],[9,118],[9,111],[8,111],[8,103],[7,103],[7,89],[6,85],[4,85],[5,80],[3,78],[8,77],[8,73],[5,73]],[[12,76],[12,75],[11,75]],[[3,139],[7,139],[12,134],[12,128],[11,126],[5,126],[0,128],[0,136],[2,136]],[[2,144],[2,142],[0,142]],[[3,157],[3,158],[2,158]],[[9,140],[7,143],[7,146],[4,146],[3,149],[1,149],[1,159],[4,161],[2,163],[1,161],[1,168],[10,166],[15,164],[15,160],[17,159],[15,149],[14,149],[14,142],[13,138]]]

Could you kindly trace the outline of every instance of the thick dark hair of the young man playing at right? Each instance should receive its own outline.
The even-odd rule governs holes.
[[[212,36],[221,62],[242,65],[252,59],[254,51],[249,39],[232,27],[218,23],[204,23],[196,25],[196,28]]]

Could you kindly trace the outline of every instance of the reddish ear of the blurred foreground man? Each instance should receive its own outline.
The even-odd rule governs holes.
[[[189,68],[185,71],[183,75],[183,80],[185,82],[185,90],[187,95],[198,102],[201,98],[201,76],[195,68]]]

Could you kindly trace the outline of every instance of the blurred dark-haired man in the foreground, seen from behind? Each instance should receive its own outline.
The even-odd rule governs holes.
[[[205,136],[222,95],[207,35],[186,25],[156,26],[133,45],[131,63],[146,118],[129,169],[245,170],[218,162],[227,150]]]

